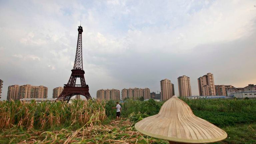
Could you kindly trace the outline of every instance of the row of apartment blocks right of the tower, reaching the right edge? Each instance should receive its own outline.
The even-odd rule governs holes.
[[[177,78],[178,80],[178,91],[179,96],[190,97],[192,96],[191,92],[191,85],[190,85],[190,78],[188,76],[180,76]],[[199,77],[198,79],[198,89],[200,96],[233,96],[234,93],[243,92],[243,91],[256,91],[256,86],[253,84],[249,84],[247,87],[244,88],[235,88],[232,85],[215,85],[213,74],[207,73],[206,75]],[[161,91],[160,95],[156,94],[155,92],[150,93],[148,88],[141,89],[141,88],[129,88],[122,90],[122,100],[125,98],[132,98],[138,99],[143,97],[144,99],[161,99],[162,101],[166,101],[172,96],[175,95],[174,93],[174,84],[171,83],[170,80],[164,79],[160,81]],[[119,97],[115,97],[112,93],[117,93]],[[115,91],[115,92],[114,92]],[[159,95],[160,97],[157,97]],[[97,98],[98,99],[105,99],[105,100],[120,100],[120,91],[119,90],[98,90],[97,91]]]

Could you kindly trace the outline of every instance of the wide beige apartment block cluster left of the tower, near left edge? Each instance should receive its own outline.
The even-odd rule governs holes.
[[[7,100],[23,98],[47,98],[48,88],[45,86],[12,85],[8,87]]]

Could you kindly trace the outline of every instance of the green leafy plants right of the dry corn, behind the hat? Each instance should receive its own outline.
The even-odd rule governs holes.
[[[191,100],[184,97],[180,97],[180,99],[191,107],[196,116],[220,127],[256,121],[256,99]],[[148,101],[126,99],[122,104],[121,113],[123,117],[137,121],[145,115],[151,116],[157,114],[163,103],[164,102],[156,102],[153,99]],[[114,101],[107,102],[107,116],[115,117],[115,111],[110,109],[113,106],[115,106]]]

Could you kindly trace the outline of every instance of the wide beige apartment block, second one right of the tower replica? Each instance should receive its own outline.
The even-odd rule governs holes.
[[[149,88],[122,89],[122,100],[124,100],[125,98],[136,100],[140,97],[143,97],[144,99],[150,99],[150,89]]]

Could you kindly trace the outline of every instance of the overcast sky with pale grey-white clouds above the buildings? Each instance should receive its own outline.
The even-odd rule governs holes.
[[[256,1],[0,0],[2,100],[9,85],[66,84],[82,20],[83,67],[89,92],[160,90],[169,79],[214,74],[215,85],[256,84]]]

